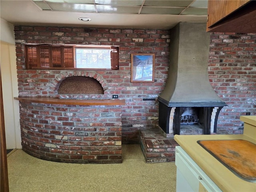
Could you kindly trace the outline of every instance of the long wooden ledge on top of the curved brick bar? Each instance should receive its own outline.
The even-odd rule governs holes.
[[[21,102],[45,103],[45,104],[64,104],[64,105],[125,105],[125,100],[119,99],[59,99],[48,97],[14,97]]]

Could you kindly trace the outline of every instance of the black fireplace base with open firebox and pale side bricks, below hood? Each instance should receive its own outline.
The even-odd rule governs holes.
[[[216,133],[217,120],[223,106],[166,106],[159,102],[159,126],[166,137],[175,134]]]

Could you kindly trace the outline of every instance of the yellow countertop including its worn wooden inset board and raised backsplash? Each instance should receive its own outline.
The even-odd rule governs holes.
[[[256,116],[241,116],[240,120],[244,122],[244,134],[174,136],[180,145],[176,151],[184,151],[220,191],[256,191]],[[224,162],[221,157],[230,162]]]

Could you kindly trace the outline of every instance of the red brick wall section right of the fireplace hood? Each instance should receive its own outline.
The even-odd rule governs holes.
[[[256,115],[256,33],[213,33],[208,74],[228,104],[220,112],[218,128],[242,134],[240,116]]]

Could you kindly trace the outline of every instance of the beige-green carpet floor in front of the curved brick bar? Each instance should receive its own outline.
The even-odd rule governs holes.
[[[68,164],[8,156],[10,192],[174,192],[174,162],[146,163],[140,145],[122,146],[121,164]]]

